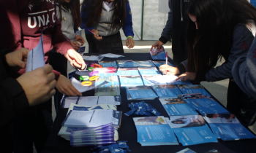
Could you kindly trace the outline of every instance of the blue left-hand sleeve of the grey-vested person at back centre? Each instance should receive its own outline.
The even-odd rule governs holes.
[[[84,3],[81,7],[80,15],[81,15],[82,24],[81,24],[80,28],[84,29],[84,31],[86,31],[86,34],[91,34],[88,30],[92,30],[94,28],[93,27],[90,27],[90,28],[86,27],[86,22],[87,22],[87,20],[89,20],[89,14],[88,14],[89,9],[87,8],[88,3],[89,2]]]

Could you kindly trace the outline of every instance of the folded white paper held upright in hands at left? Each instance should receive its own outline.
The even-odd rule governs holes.
[[[36,68],[40,68],[45,66],[45,55],[42,43],[42,33],[40,36],[40,40],[34,49],[32,49],[26,61],[26,72],[33,71]]]

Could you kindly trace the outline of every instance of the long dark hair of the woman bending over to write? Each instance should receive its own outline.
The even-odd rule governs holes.
[[[233,30],[238,23],[255,20],[256,9],[246,0],[190,0],[187,11],[195,15],[187,28],[187,71],[196,72],[196,79],[217,64],[222,56],[227,60],[233,44]]]

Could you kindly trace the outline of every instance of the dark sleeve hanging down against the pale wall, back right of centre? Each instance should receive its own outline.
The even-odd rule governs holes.
[[[164,44],[168,40],[170,41],[170,37],[173,32],[173,9],[171,5],[171,0],[169,0],[170,11],[168,12],[168,20],[166,21],[165,28],[162,30],[161,37],[159,38],[159,41],[161,41]]]

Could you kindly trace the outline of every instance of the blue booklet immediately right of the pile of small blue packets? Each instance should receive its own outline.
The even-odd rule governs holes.
[[[159,98],[162,106],[169,116],[197,115],[197,111],[191,109],[185,101],[180,98]]]

